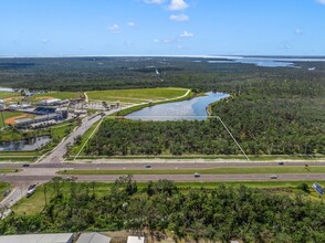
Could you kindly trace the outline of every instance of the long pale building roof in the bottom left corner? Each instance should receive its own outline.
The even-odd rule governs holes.
[[[73,233],[20,234],[0,236],[0,243],[72,243]]]

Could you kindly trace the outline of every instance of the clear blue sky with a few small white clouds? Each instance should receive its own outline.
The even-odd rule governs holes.
[[[325,0],[0,0],[0,56],[325,55]]]

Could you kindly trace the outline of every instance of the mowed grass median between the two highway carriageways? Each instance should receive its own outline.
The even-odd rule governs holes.
[[[155,166],[153,166],[155,167]],[[242,173],[324,173],[325,167],[220,167],[211,169],[145,169],[145,170],[66,170],[60,175],[242,175]]]

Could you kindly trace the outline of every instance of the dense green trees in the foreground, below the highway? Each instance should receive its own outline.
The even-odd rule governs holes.
[[[167,180],[139,189],[130,176],[119,178],[104,197],[96,194],[95,183],[54,180],[44,189],[43,211],[13,212],[0,221],[0,234],[145,230],[151,235],[172,232],[175,241],[325,241],[325,205],[303,191],[290,197],[245,187],[180,190]]]

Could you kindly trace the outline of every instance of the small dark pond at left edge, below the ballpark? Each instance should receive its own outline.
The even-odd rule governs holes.
[[[42,148],[51,141],[49,136],[19,141],[0,142],[0,151],[32,151]]]

